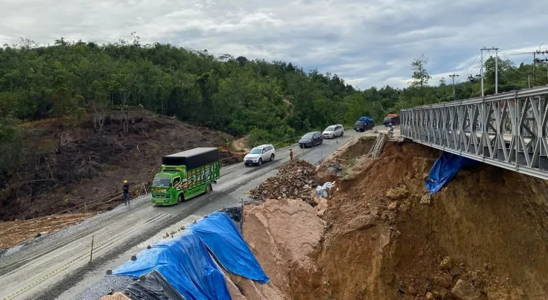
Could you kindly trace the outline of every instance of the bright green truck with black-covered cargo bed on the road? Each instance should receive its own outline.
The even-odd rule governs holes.
[[[219,148],[194,148],[162,157],[152,182],[152,204],[172,205],[209,193],[220,177]]]

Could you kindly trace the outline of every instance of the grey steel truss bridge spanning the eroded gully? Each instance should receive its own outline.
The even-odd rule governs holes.
[[[548,179],[548,86],[401,111],[414,142]]]

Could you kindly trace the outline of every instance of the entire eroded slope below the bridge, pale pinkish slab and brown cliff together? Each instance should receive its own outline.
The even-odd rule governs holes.
[[[478,164],[430,197],[438,155],[388,142],[379,158],[343,164],[351,179],[322,205],[248,206],[244,237],[289,299],[548,298],[546,182]]]

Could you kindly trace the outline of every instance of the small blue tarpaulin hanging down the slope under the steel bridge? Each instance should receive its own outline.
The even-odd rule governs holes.
[[[428,178],[426,178],[426,189],[430,194],[435,194],[447,183],[461,166],[476,164],[477,161],[456,155],[453,153],[443,152],[442,155],[435,161]]]

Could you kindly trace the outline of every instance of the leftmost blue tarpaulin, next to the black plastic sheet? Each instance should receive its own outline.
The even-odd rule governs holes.
[[[224,274],[195,233],[156,243],[112,274],[138,278],[152,270],[162,274],[186,299],[230,300]]]

